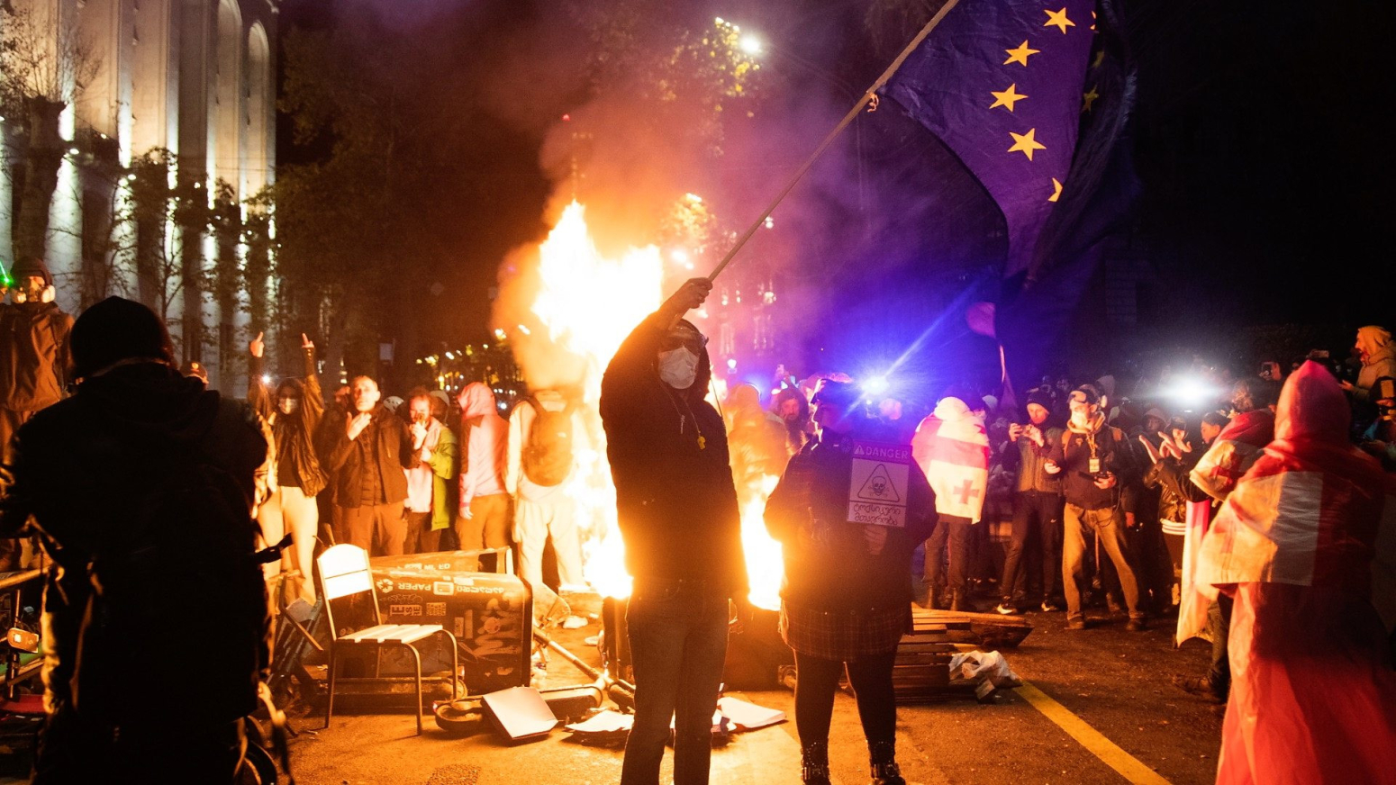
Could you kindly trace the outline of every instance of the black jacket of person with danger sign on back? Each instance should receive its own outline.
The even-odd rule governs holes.
[[[849,523],[853,436],[824,434],[790,459],[766,501],[766,530],[780,541],[789,602],[824,611],[886,608],[912,601],[912,551],[935,526],[935,492],[910,462],[906,527],[886,528],[872,554],[864,524]]]

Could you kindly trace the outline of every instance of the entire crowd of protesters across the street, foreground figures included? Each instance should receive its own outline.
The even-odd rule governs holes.
[[[399,399],[357,376],[325,396],[309,336],[303,374],[272,385],[258,335],[242,403],[205,389],[197,368],[181,371],[144,305],[109,298],[73,323],[45,296],[42,264],[15,273],[32,275],[3,312],[7,335],[28,337],[4,358],[0,523],[54,563],[36,782],[80,781],[94,765],[148,770],[152,756],[188,781],[222,781],[240,757],[237,718],[268,668],[268,587],[281,605],[314,604],[325,540],[373,555],[514,548],[535,593],[585,588],[568,482],[597,435],[575,390],[535,390],[504,413],[480,382]],[[780,632],[799,668],[804,782],[829,782],[845,672],[874,782],[905,782],[892,662],[913,604],[1064,612],[1068,630],[1167,619],[1178,643],[1212,643],[1208,672],[1175,683],[1228,703],[1220,781],[1266,781],[1275,765],[1323,771],[1332,760],[1393,770],[1396,745],[1358,750],[1347,731],[1361,724],[1396,739],[1388,330],[1358,332],[1353,372],[1314,360],[1289,374],[1277,363],[1212,372],[1212,393],[1187,404],[1150,383],[1125,395],[1106,375],[1044,379],[1020,407],[1007,390],[952,386],[916,421],[903,402],[842,374],[801,382],[780,368],[768,403],[743,383],[716,400],[706,337],[683,318],[709,291],[705,279],[684,284],[627,337],[602,382],[634,579],[624,784],[658,781],[670,726],[674,781],[708,781],[727,623],[733,609],[747,612],[740,510],[752,502],[765,503],[783,545]],[[35,403],[50,388],[53,400]],[[71,492],[80,487],[94,492]],[[176,533],[170,520],[202,523]],[[544,577],[549,542],[556,574]],[[156,636],[117,654],[112,619],[155,595],[156,570],[144,567],[179,561],[172,548],[201,554],[180,567],[207,587],[187,615],[222,602],[218,618],[237,622],[205,630],[226,643],[226,678],[205,715],[179,731],[177,753],[163,749],[156,718],[92,686],[112,672],[94,662],[169,643]],[[1342,685],[1342,700],[1319,697],[1322,678]],[[1289,719],[1266,721],[1279,714]]]

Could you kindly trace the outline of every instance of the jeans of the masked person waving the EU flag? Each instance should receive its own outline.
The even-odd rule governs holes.
[[[635,725],[621,785],[658,785],[674,721],[674,785],[705,785],[712,714],[727,655],[727,593],[692,581],[635,581],[625,611],[635,668]]]

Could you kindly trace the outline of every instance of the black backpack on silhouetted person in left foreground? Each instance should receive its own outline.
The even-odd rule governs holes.
[[[223,414],[223,413],[221,413]],[[112,724],[229,722],[253,711],[269,607],[243,487],[197,446],[163,439],[148,488],[87,565],[73,703]],[[155,696],[159,700],[148,700]]]

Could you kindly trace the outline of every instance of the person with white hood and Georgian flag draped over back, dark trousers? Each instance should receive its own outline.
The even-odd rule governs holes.
[[[937,607],[935,591],[949,540],[949,607],[951,611],[963,611],[967,608],[965,570],[969,566],[969,527],[979,523],[988,491],[988,431],[963,399],[942,397],[916,427],[912,457],[935,491],[938,513],[935,528],[926,541],[927,607]]]

